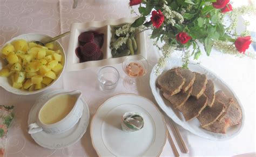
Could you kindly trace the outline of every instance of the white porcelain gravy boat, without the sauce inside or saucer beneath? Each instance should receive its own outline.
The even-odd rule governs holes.
[[[76,103],[73,106],[72,110],[62,120],[55,122],[53,124],[44,124],[39,118],[39,113],[41,112],[42,108],[53,97],[56,97],[58,95],[64,95],[64,94],[68,94],[76,97]],[[28,133],[33,134],[33,133],[44,131],[50,134],[57,134],[57,133],[62,133],[71,129],[75,124],[77,124],[78,120],[82,117],[84,107],[83,107],[83,102],[80,100],[81,96],[82,96],[82,92],[79,90],[71,91],[71,92],[63,92],[63,93],[52,95],[52,97],[48,101],[46,101],[44,105],[42,105],[42,107],[38,110],[36,122],[29,125]]]

